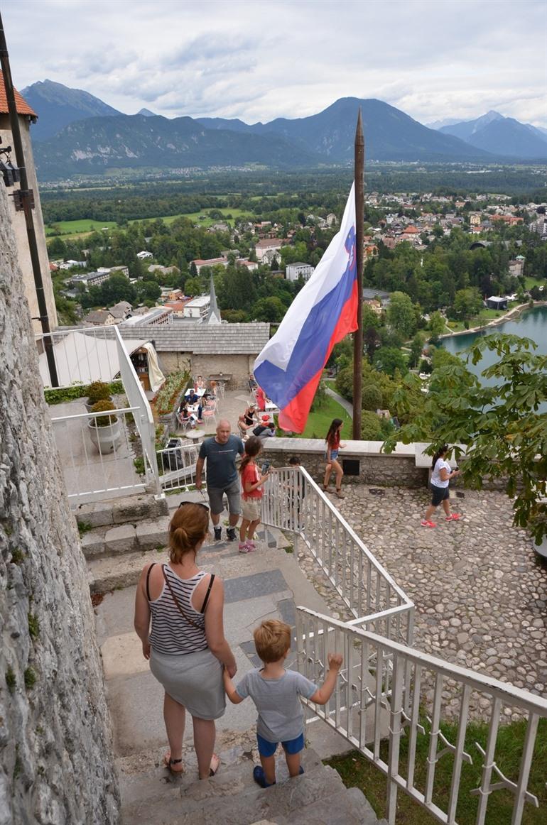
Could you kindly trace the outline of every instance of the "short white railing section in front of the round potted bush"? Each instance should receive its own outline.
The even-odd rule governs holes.
[[[90,422],[104,417],[105,413],[78,413],[51,419],[71,500],[90,502],[110,497],[113,493],[142,493],[146,487],[134,466],[131,433],[132,420],[139,414],[139,408],[118,408],[108,414],[116,416],[117,426],[112,430],[110,427],[94,428],[101,438],[106,435],[101,446],[92,441],[95,433],[92,433]]]

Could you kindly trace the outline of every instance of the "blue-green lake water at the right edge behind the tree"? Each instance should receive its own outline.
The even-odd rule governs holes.
[[[491,327],[481,332],[469,332],[465,335],[455,335],[450,338],[442,339],[442,346],[448,351],[457,355],[461,350],[469,347],[475,340],[483,335],[492,334],[493,332],[509,332],[512,335],[519,335],[520,337],[531,338],[537,344],[535,353],[547,355],[547,306],[534,307],[533,309],[526,309],[514,321],[506,321],[499,323],[497,327]],[[480,375],[483,370],[493,364],[497,360],[495,352],[489,350],[484,352],[483,358],[478,364],[473,365],[469,363],[468,369],[474,372],[475,375]],[[488,381],[481,378],[483,383],[494,384],[493,379]],[[542,404],[540,412],[547,413],[547,403]]]

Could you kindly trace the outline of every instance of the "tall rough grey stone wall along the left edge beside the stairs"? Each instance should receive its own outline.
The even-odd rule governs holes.
[[[0,825],[109,825],[101,658],[39,375],[0,186]]]

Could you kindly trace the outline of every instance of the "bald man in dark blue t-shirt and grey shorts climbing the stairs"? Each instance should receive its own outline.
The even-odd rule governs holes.
[[[222,527],[220,513],[224,510],[222,497],[228,497],[229,527],[226,530],[229,541],[235,541],[235,528],[241,512],[241,488],[236,469],[238,455],[243,455],[243,441],[233,436],[230,423],[223,419],[216,428],[216,436],[206,438],[200,446],[196,461],[196,488],[201,489],[203,465],[207,460],[207,494],[211,508],[211,521],[215,528],[215,541],[220,540]]]

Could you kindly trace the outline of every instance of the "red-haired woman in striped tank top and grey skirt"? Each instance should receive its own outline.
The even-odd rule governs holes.
[[[169,563],[146,564],[135,598],[134,629],[150,670],[163,685],[163,719],[170,751],[165,765],[182,773],[186,709],[194,726],[200,779],[215,775],[215,719],[226,707],[223,666],[237,667],[224,639],[224,587],[219,577],[196,565],[207,535],[209,508],[182,502],[169,525]],[[150,629],[152,619],[152,629]]]

